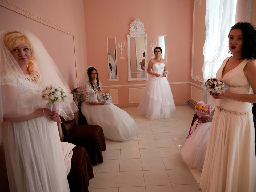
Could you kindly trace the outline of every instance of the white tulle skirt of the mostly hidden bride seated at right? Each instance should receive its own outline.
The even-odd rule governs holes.
[[[197,120],[191,130],[195,129],[196,122]],[[211,122],[199,123],[191,137],[184,141],[181,147],[181,157],[190,168],[203,169],[210,128]]]

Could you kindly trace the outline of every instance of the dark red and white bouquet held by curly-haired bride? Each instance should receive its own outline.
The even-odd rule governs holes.
[[[221,94],[222,92],[225,93],[228,86],[221,79],[210,78],[204,83],[203,89],[207,90],[207,94],[210,94],[210,92]]]

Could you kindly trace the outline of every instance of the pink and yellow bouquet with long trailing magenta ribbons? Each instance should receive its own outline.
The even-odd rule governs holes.
[[[191,127],[189,129],[189,134],[187,135],[187,138],[189,138],[193,134],[193,132],[197,129],[197,125],[198,125],[199,121],[202,118],[209,116],[211,114],[211,106],[209,104],[205,104],[203,101],[199,101],[195,105],[195,113],[197,114],[198,118],[196,118],[194,120],[193,124],[191,125]],[[195,129],[193,131],[191,131],[195,122],[196,122]],[[186,138],[186,140],[187,140],[187,138]]]

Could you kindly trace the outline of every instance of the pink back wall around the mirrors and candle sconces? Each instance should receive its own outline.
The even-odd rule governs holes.
[[[152,39],[154,39],[155,42],[155,40],[158,40],[158,35],[167,35],[168,81],[189,82],[192,27],[191,0],[159,0],[157,2],[148,0],[85,0],[84,2],[86,37],[90,37],[86,39],[86,46],[87,49],[97,50],[97,52],[93,51],[87,55],[87,61],[99,71],[103,86],[146,83],[146,81],[128,82],[127,45],[123,50],[125,59],[119,59],[120,49],[117,50],[119,81],[107,81],[107,65],[105,57],[101,56],[106,53],[105,39],[107,37],[116,37],[119,43],[122,39],[122,42],[126,41],[127,44],[126,35],[129,34],[130,23],[135,19],[140,19],[145,24],[145,33],[148,35],[148,59],[150,59],[152,53],[149,41],[152,42]],[[180,84],[179,87],[185,89],[186,85]],[[104,89],[106,90],[106,88]],[[125,90],[128,91],[128,88],[125,87]],[[119,91],[119,101],[124,100],[119,102],[119,106],[130,105],[127,91]],[[173,94],[176,104],[184,104],[189,98],[189,91],[185,94],[186,98],[179,97],[178,92],[173,92]]]

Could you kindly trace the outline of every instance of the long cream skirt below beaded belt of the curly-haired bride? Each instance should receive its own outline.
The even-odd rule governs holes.
[[[200,181],[203,192],[256,191],[254,135],[252,113],[215,109]]]

